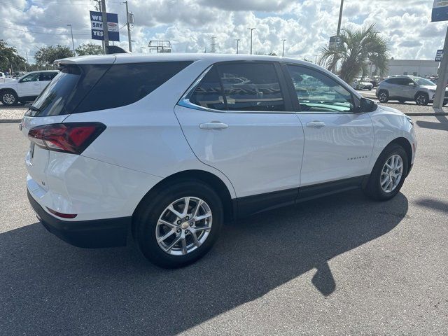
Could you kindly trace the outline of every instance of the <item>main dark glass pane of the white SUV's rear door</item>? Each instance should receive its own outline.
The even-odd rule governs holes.
[[[229,111],[285,111],[274,64],[218,65]]]

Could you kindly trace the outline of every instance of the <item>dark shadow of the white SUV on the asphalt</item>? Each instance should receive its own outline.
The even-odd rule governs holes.
[[[74,248],[38,223],[0,235],[0,334],[172,335],[255,300],[304,272],[321,295],[328,260],[381,237],[407,198],[333,195],[225,225],[216,247],[183,269],[159,269],[134,248]]]

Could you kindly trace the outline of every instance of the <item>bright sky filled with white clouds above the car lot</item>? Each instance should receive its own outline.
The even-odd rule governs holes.
[[[120,0],[106,0],[108,11],[119,14],[125,24],[125,6]],[[253,50],[314,59],[318,50],[335,34],[339,0],[129,0],[135,15],[132,31],[134,50],[147,46],[151,39],[167,39],[174,51],[210,50],[210,38],[216,36],[218,52],[248,52],[250,32]],[[360,28],[375,24],[388,39],[391,55],[397,58],[433,59],[442,47],[446,22],[430,22],[432,1],[376,0],[345,1],[343,27]],[[91,0],[2,0],[0,38],[18,48],[30,59],[42,45],[71,45],[69,27],[73,25],[75,45],[90,42],[88,10]],[[19,30],[13,30],[19,29]],[[25,32],[34,31],[34,32]],[[47,33],[47,34],[37,34]],[[127,48],[126,29],[120,31]],[[98,42],[96,42],[98,43]],[[147,50],[147,49],[146,49]]]

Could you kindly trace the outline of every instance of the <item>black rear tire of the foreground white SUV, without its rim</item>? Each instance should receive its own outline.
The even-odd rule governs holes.
[[[189,196],[198,197],[208,204],[212,214],[211,229],[202,245],[194,251],[185,255],[171,255],[162,250],[162,247],[158,244],[156,239],[157,223],[172,202]],[[134,239],[141,253],[155,265],[164,268],[183,267],[202,258],[210,250],[218,239],[223,226],[223,218],[221,199],[209,185],[202,181],[176,181],[176,183],[158,190],[157,193],[148,195],[139,205],[139,209],[134,216]],[[173,239],[179,236],[176,232],[173,235],[175,235]],[[200,237],[200,234],[197,237]],[[193,239],[193,237],[190,237],[190,239]]]

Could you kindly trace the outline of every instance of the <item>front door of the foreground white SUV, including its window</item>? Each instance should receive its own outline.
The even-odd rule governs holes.
[[[374,134],[368,113],[353,113],[351,93],[325,73],[293,64],[283,68],[304,129],[300,186],[370,174]],[[320,85],[309,87],[309,77]]]

